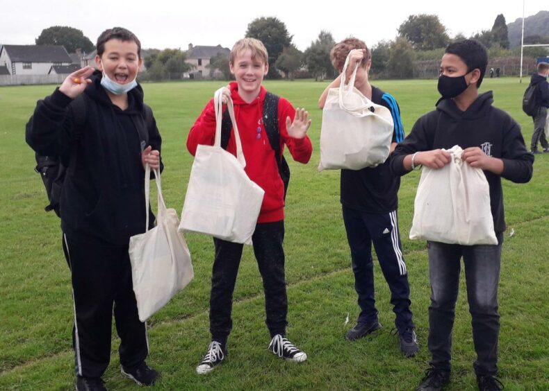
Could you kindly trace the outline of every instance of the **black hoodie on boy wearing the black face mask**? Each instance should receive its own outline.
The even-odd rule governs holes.
[[[395,175],[404,175],[402,161],[406,155],[438,148],[480,147],[486,155],[503,161],[503,172],[495,175],[484,171],[490,186],[490,204],[496,233],[505,231],[501,177],[517,183],[532,178],[534,157],[528,153],[521,128],[503,110],[492,106],[492,92],[478,96],[465,112],[452,99],[441,99],[436,110],[421,116],[410,134],[391,154],[391,168]],[[443,216],[441,216],[443,218]]]

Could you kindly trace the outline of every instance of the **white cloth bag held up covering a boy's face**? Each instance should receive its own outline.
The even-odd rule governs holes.
[[[345,85],[349,59],[347,56],[341,72],[341,85],[329,89],[322,110],[319,172],[377,166],[385,162],[391,148],[393,116],[354,87],[360,64]]]

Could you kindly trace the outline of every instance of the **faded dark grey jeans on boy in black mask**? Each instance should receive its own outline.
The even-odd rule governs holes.
[[[473,364],[480,375],[498,372],[498,284],[503,234],[498,245],[452,245],[427,242],[429,249],[429,351],[431,365],[450,370],[452,327],[459,290],[461,257],[464,259],[467,300],[472,318],[473,343],[477,360]]]

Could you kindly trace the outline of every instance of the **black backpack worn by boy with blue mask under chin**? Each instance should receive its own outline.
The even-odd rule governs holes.
[[[86,120],[86,101],[84,94],[81,97],[75,98],[72,104],[74,114],[74,126],[79,129],[85,125]],[[153,125],[153,116],[151,107],[143,104],[145,112],[145,125],[147,129]],[[36,167],[34,171],[40,174],[46,193],[48,195],[49,204],[44,208],[45,211],[55,211],[60,217],[59,200],[61,199],[61,191],[65,175],[67,173],[68,162],[60,156],[43,156],[35,153]]]

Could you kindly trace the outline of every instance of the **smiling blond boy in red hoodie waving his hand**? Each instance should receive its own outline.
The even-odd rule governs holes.
[[[265,96],[261,85],[268,73],[267,49],[254,38],[239,40],[231,50],[229,67],[236,82],[231,82],[223,92],[223,103],[232,98],[240,140],[246,159],[248,177],[265,191],[256,230],[252,236],[254,254],[263,278],[265,290],[265,323],[270,331],[268,349],[281,358],[302,362],[306,354],[286,339],[286,279],[284,277],[284,193],[285,184],[279,173],[278,158],[284,144],[297,162],[306,164],[313,147],[306,132],[311,125],[309,114],[304,109],[295,110],[284,98],[277,101],[277,118],[265,115]],[[293,121],[291,121],[293,119]],[[267,121],[265,124],[264,122]],[[267,130],[274,121],[278,123],[279,154],[270,144]],[[215,110],[213,99],[208,102],[190,129],[187,149],[195,155],[198,144],[213,145],[215,139]],[[233,132],[226,148],[236,154]],[[213,239],[215,259],[212,270],[210,296],[210,332],[212,342],[208,352],[197,366],[198,374],[206,374],[222,362],[227,355],[227,338],[232,328],[231,309],[236,275],[242,256],[243,245],[218,238]]]

